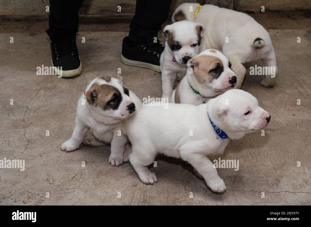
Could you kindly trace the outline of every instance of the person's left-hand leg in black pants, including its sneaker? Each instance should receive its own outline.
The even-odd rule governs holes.
[[[51,40],[52,66],[62,77],[77,76],[82,71],[76,44],[78,11],[82,3],[83,0],[50,0],[49,29],[46,33]]]

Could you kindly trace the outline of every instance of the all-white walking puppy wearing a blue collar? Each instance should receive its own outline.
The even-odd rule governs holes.
[[[207,156],[222,154],[229,138],[241,139],[248,132],[260,130],[270,118],[254,96],[238,89],[198,106],[143,106],[125,123],[132,143],[130,162],[142,182],[153,184],[157,178],[148,165],[157,154],[182,158],[213,191],[223,192],[225,183]]]

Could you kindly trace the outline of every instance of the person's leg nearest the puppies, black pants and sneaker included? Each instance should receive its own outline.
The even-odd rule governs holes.
[[[160,55],[164,47],[157,40],[157,34],[167,20],[170,4],[171,0],[136,0],[130,32],[122,44],[124,64],[160,72]]]

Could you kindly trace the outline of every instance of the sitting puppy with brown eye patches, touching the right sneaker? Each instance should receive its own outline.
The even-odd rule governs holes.
[[[188,60],[206,49],[203,32],[202,24],[186,20],[165,26],[165,49],[160,57],[162,97],[170,98],[176,80],[186,75]]]

